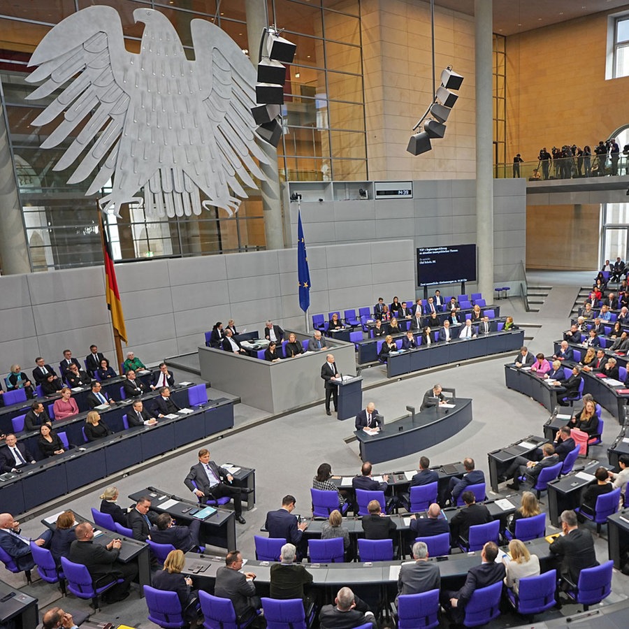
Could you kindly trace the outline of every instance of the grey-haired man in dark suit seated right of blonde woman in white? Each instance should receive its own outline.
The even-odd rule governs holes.
[[[570,589],[579,581],[579,573],[588,567],[598,565],[594,551],[594,540],[586,529],[579,529],[577,514],[574,511],[564,511],[561,516],[561,530],[563,536],[556,537],[549,546],[551,554],[558,558],[559,574],[563,579],[560,588]]]

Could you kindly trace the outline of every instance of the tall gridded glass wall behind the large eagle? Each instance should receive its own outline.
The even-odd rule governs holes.
[[[79,161],[65,171],[53,170],[82,127],[59,147],[41,149],[59,120],[46,126],[31,124],[50,99],[25,100],[34,86],[24,80],[29,58],[43,36],[64,17],[94,4],[117,10],[129,52],[139,50],[144,25],[135,22],[133,10],[141,7],[155,8],[168,17],[189,59],[194,59],[189,29],[194,17],[215,22],[240,48],[250,48],[245,0],[0,3],[0,98],[10,131],[33,270],[102,263],[96,198],[107,194],[107,189],[86,197],[93,175],[68,185]],[[278,147],[282,180],[367,178],[359,8],[359,0],[267,0],[269,24],[285,29],[285,36],[297,45],[284,89],[286,135]],[[257,47],[259,42],[252,45]],[[166,219],[147,215],[142,205],[124,206],[121,217],[110,217],[107,225],[115,258],[126,261],[263,249],[261,196],[258,189],[245,191],[249,198],[234,217],[212,208],[198,217]]]

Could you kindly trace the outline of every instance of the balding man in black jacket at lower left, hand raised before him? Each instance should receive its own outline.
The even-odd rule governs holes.
[[[95,581],[107,583],[109,579],[123,579],[103,593],[101,598],[106,602],[117,602],[129,596],[131,581],[138,575],[138,565],[117,561],[122,541],[111,540],[106,546],[94,544],[94,528],[89,522],[78,524],[75,535],[76,540],[72,542],[68,556],[70,561],[85,565]]]

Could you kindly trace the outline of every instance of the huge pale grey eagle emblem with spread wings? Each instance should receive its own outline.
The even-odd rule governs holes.
[[[207,20],[190,23],[195,60],[188,61],[164,15],[138,8],[133,17],[145,24],[139,54],[125,50],[120,17],[108,6],[66,17],[38,45],[29,62],[38,68],[27,81],[45,82],[27,98],[63,89],[32,123],[63,113],[42,147],[69,143],[55,171],[82,157],[68,183],[96,171],[87,195],[112,179],[100,203],[115,215],[122,203],[144,200],[159,216],[198,215],[214,205],[231,216],[247,197],[243,185],[256,188],[252,175],[265,178],[254,158],[268,163],[254,140],[255,69]],[[141,188],[144,199],[136,196]]]

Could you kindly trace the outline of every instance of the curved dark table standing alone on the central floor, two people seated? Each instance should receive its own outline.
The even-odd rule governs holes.
[[[354,431],[361,459],[371,463],[391,461],[456,435],[472,421],[472,400],[456,398],[451,401],[454,408],[431,407],[415,414],[414,418],[408,414],[395,421],[387,421],[377,435]]]

